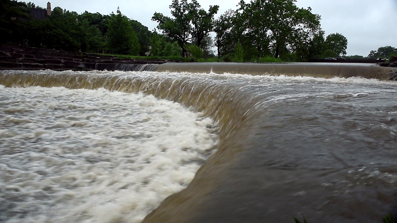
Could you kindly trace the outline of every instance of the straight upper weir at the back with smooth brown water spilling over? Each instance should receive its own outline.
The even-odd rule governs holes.
[[[189,73],[235,73],[249,75],[289,75],[308,77],[364,77],[397,80],[397,68],[372,63],[163,63],[112,64],[97,63],[96,70],[158,71]]]

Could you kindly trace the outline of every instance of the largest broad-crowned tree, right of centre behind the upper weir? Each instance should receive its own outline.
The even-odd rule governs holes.
[[[267,56],[270,48],[274,57],[280,52],[308,48],[310,40],[320,29],[320,15],[295,5],[296,0],[241,1],[237,17],[245,37],[256,46],[258,56]]]

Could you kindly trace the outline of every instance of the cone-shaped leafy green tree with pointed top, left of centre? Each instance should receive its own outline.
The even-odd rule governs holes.
[[[106,35],[108,36],[108,50],[113,53],[137,55],[141,48],[131,23],[125,15],[121,14],[119,8],[117,14],[113,12],[110,14]]]

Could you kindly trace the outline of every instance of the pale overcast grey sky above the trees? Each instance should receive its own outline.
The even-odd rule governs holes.
[[[25,0],[46,8],[48,0]],[[135,19],[153,30],[154,12],[170,15],[172,0],[50,0],[52,8],[59,6],[69,11],[109,14],[117,7],[130,19]],[[197,0],[202,8],[219,5],[220,14],[236,9],[239,0]],[[249,2],[246,0],[245,2]],[[298,0],[297,6],[311,7],[321,15],[321,27],[326,32],[341,33],[348,40],[347,55],[368,56],[370,50],[381,46],[397,47],[397,0]]]

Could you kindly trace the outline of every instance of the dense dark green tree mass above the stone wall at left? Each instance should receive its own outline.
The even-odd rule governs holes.
[[[82,52],[145,55],[152,33],[136,20],[116,14],[69,12],[60,7],[47,19],[31,17],[35,4],[0,1],[1,42]],[[4,12],[4,13],[3,13]]]

